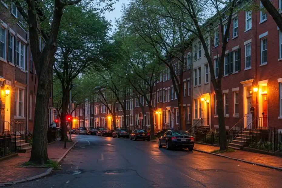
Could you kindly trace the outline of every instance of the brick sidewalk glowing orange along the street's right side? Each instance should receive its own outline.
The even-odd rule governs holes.
[[[159,139],[151,140],[153,142],[159,142]],[[282,170],[282,158],[277,156],[265,155],[260,153],[247,152],[242,150],[235,150],[235,152],[220,153],[215,154],[211,153],[214,150],[218,150],[218,146],[210,146],[195,143],[194,150],[208,153],[216,156],[226,157],[229,159],[234,159],[242,161],[245,163],[255,164],[259,166],[264,166],[276,170]]]

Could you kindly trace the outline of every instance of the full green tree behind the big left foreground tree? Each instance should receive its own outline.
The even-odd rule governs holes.
[[[62,139],[67,137],[66,115],[72,81],[91,67],[106,66],[102,52],[110,45],[107,33],[109,23],[94,8],[70,6],[65,8],[58,36],[54,70],[62,86],[61,119]]]

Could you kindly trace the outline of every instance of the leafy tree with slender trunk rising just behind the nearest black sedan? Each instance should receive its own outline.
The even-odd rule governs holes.
[[[190,45],[188,36],[191,32],[183,29],[184,22],[174,18],[181,15],[168,11],[170,8],[173,7],[165,7],[160,1],[134,0],[123,8],[120,22],[127,32],[139,35],[148,45],[151,45],[153,51],[150,52],[169,68],[178,99],[180,129],[186,130],[182,80],[183,70],[186,69],[186,50]],[[190,19],[187,18],[187,20]],[[186,27],[189,26],[186,25]]]

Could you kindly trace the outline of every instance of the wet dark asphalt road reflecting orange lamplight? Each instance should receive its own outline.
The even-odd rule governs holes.
[[[78,143],[62,161],[62,170],[10,187],[282,187],[282,172],[269,168],[196,151],[167,151],[155,142],[72,136]]]

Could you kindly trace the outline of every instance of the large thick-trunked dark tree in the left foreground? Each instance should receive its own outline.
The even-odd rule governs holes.
[[[24,0],[21,2],[19,0],[12,0],[22,17],[27,22],[29,45],[38,76],[33,146],[29,159],[32,163],[43,164],[48,160],[47,122],[49,91],[52,84],[52,67],[54,63],[54,55],[57,51],[57,38],[63,9],[69,5],[79,4],[81,1],[82,0],[55,0],[54,2],[49,2]],[[107,3],[107,10],[112,10],[112,4],[114,3],[112,0],[100,0],[99,2],[101,1]],[[25,12],[26,7],[27,12]],[[46,42],[43,50],[40,50],[39,48],[39,33]]]

